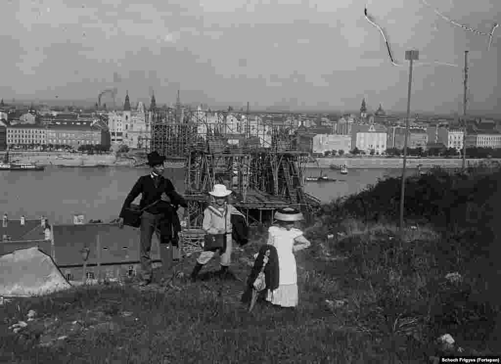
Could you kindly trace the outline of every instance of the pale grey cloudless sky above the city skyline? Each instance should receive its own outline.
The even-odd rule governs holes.
[[[368,2],[367,2],[368,1]],[[427,0],[458,23],[488,33],[498,0]],[[66,4],[64,4],[66,3]],[[5,0],[0,22],[0,97],[96,100],[128,90],[131,102],[251,108],[407,108],[408,61],[459,67],[413,69],[411,111],[462,113],[464,51],[468,109],[501,114],[501,27],[488,38],[438,17],[421,0]],[[378,30],[384,28],[390,63]],[[405,6],[404,6],[405,5]],[[103,97],[111,104],[111,99]],[[149,105],[149,102],[148,102]]]

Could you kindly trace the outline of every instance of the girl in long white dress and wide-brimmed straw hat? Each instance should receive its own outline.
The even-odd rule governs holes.
[[[303,236],[303,231],[295,227],[303,220],[303,214],[291,207],[275,213],[277,224],[268,229],[268,244],[277,249],[279,257],[279,287],[268,290],[266,300],[282,307],[298,305],[298,278],[294,252],[310,247],[311,243]]]

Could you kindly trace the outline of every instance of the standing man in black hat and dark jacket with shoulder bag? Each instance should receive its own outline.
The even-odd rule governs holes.
[[[146,208],[141,215],[141,270],[142,281],[140,285],[144,286],[151,283],[153,268],[150,257],[151,238],[157,227],[160,227],[160,243],[177,244],[177,234],[175,234],[172,222],[177,218],[177,209],[179,206],[187,207],[184,199],[176,193],[172,182],[163,177],[165,157],[153,151],[148,154],[148,165],[152,168],[149,175],[141,176],[137,180],[132,190],[127,195],[120,212],[118,220],[119,226],[124,223],[124,212],[130,208],[134,199],[142,194],[139,208]],[[174,216],[175,215],[175,216]],[[166,262],[163,262],[165,264]]]

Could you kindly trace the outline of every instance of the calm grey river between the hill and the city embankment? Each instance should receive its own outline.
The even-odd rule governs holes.
[[[324,169],[324,174],[337,182],[307,183],[305,191],[324,202],[359,192],[385,175],[398,176],[398,169],[350,169],[348,175]],[[415,173],[415,170],[409,170]],[[48,217],[50,223],[73,222],[73,214],[82,213],[85,221],[100,219],[107,222],[118,216],[127,193],[146,168],[58,168],[44,171],[0,171],[0,213],[9,219]],[[319,175],[320,169],[308,168],[305,176]],[[184,170],[168,168],[166,177],[176,189],[184,191]],[[139,202],[139,197],[136,199]]]

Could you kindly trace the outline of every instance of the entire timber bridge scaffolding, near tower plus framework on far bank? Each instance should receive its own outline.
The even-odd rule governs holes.
[[[151,150],[168,159],[184,159],[188,226],[201,226],[209,202],[207,192],[215,183],[233,191],[231,203],[250,225],[270,222],[275,210],[286,206],[300,209],[309,218],[320,205],[303,190],[309,153],[294,150],[293,137],[283,124],[269,126],[265,141],[250,135],[248,123],[231,130],[229,114],[235,115],[212,113],[211,122],[199,110],[179,115],[179,110],[168,109],[154,114]]]

